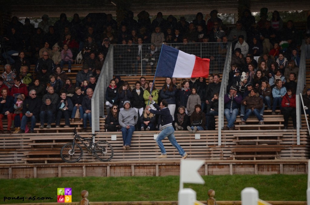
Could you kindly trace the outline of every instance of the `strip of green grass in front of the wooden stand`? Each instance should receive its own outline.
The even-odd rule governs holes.
[[[209,189],[217,201],[241,200],[241,190],[254,187],[266,201],[306,201],[307,175],[222,175],[202,176],[204,185],[184,184],[204,201]],[[41,179],[0,179],[0,203],[56,202],[57,188],[71,187],[72,202],[89,192],[91,202],[100,201],[177,201],[179,176],[168,177],[62,177]],[[3,197],[51,197],[50,200],[6,200]]]

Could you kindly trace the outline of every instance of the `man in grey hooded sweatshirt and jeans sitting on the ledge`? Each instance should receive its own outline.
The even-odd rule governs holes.
[[[138,122],[138,113],[131,107],[130,101],[125,101],[123,110],[119,112],[118,122],[122,126],[123,149],[129,150],[132,133]]]

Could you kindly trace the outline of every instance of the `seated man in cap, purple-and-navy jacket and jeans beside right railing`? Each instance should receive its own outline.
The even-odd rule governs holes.
[[[229,93],[224,95],[224,115],[227,119],[227,126],[223,127],[223,130],[235,130],[234,122],[239,113],[241,100],[241,95],[237,95],[237,86],[232,85]]]

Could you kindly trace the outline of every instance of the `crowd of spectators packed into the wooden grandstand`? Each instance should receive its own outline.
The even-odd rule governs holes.
[[[14,120],[12,128],[15,127],[15,132],[24,133],[28,129],[25,126],[27,120],[32,122],[29,132],[33,132],[33,120],[40,120],[41,128],[44,128],[44,123],[47,122],[47,128],[50,128],[55,120],[59,127],[60,119],[64,117],[65,127],[69,127],[79,111],[78,118],[84,122],[86,129],[86,119],[91,125],[90,98],[109,45],[123,46],[123,49],[116,51],[116,57],[121,59],[117,63],[124,67],[135,63],[132,74],[136,75],[139,62],[142,62],[143,73],[147,62],[154,65],[152,69],[155,69],[159,54],[156,44],[163,42],[182,43],[179,49],[184,51],[188,49],[188,42],[232,42],[232,70],[229,74],[229,92],[225,105],[226,109],[230,109],[230,113],[227,114],[232,116],[232,110],[240,109],[242,122],[245,124],[247,116],[250,115],[247,100],[257,95],[263,99],[259,101],[263,102],[263,105],[255,108],[259,110],[259,115],[262,116],[265,105],[267,109],[272,109],[272,114],[276,114],[275,109],[277,105],[281,109],[281,99],[286,90],[290,89],[292,93],[296,90],[300,62],[297,46],[300,44],[300,37],[293,21],[289,20],[284,27],[279,12],[273,11],[272,19],[268,20],[267,11],[263,8],[261,19],[255,22],[251,12],[246,9],[241,20],[237,21],[236,27],[230,32],[225,29],[217,10],[210,12],[211,17],[207,22],[200,12],[192,22],[186,21],[184,17],[180,17],[178,21],[173,15],[164,19],[162,13],[158,12],[156,19],[151,22],[146,11],[140,12],[136,21],[130,11],[119,26],[111,14],[99,22],[91,16],[81,20],[78,14],[74,14],[73,20],[69,22],[66,14],[62,13],[54,25],[49,22],[48,15],[43,15],[38,28],[34,28],[29,19],[26,19],[23,25],[17,17],[13,17],[4,37],[7,52],[3,53],[3,56],[8,58],[10,64],[5,65],[5,72],[0,78],[0,119],[7,116],[8,122]],[[147,47],[145,44],[152,45]],[[225,45],[220,45],[218,53],[212,54],[214,58],[225,58]],[[306,47],[307,50],[310,50],[309,48]],[[76,84],[73,85],[62,68],[64,64],[68,64],[70,72],[73,59],[80,51],[84,63],[76,76]],[[26,58],[25,52],[31,53],[31,57]],[[13,53],[18,54],[17,59],[11,57]],[[122,59],[124,56],[131,58]],[[35,77],[29,73],[30,64],[36,65]],[[144,110],[151,95],[156,103],[166,100],[175,129],[188,129],[190,132],[215,129],[214,116],[218,112],[221,85],[219,75],[210,75],[208,84],[206,79],[201,77],[190,81],[181,80],[179,86],[176,79],[166,78],[165,85],[160,90],[156,89],[152,82],[145,83],[145,78],[140,80],[133,88],[127,82],[121,81],[119,76],[111,80],[105,93],[107,114],[112,115],[107,116],[110,123],[114,123],[113,118],[118,118],[118,112],[113,112],[115,105],[118,110],[123,110],[124,102],[131,101],[130,107],[134,108],[139,118],[139,122],[135,123],[138,124],[136,129],[160,129],[158,119],[151,119],[157,117]],[[153,88],[152,91],[150,88]],[[19,98],[20,95],[23,96]],[[242,96],[242,102],[235,100],[237,95]],[[250,99],[245,100],[247,96]],[[14,99],[13,103],[11,98]],[[19,101],[30,102],[38,98],[40,103],[37,100],[37,107],[41,107],[38,113]],[[229,102],[235,101],[236,108],[228,106]],[[252,112],[256,115],[255,109],[252,109]],[[13,117],[12,113],[19,115]],[[260,116],[257,115],[259,123],[263,124]],[[226,117],[229,118],[228,115]],[[110,126],[107,130],[120,130],[121,124]],[[2,122],[0,132],[3,133],[1,126]],[[224,127],[227,128],[234,129],[234,126],[230,124]],[[7,132],[10,133],[10,130],[11,126],[8,126]]]

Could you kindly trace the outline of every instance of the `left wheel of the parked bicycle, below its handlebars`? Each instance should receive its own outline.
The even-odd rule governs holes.
[[[79,161],[83,156],[82,147],[75,143],[73,146],[73,142],[69,142],[65,144],[60,150],[60,157],[65,162],[74,163]]]

